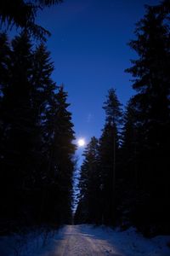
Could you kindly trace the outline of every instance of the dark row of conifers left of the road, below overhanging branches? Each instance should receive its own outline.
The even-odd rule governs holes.
[[[0,34],[0,228],[71,221],[75,145],[67,93],[44,44]]]

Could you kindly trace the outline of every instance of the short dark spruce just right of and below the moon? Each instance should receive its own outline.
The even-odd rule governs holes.
[[[100,177],[99,177],[99,145],[92,137],[83,153],[79,180],[79,203],[75,214],[76,223],[100,223]]]

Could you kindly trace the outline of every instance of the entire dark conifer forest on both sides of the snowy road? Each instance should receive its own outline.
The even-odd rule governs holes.
[[[106,90],[105,125],[84,150],[74,214],[77,145],[68,92],[52,79],[49,32],[35,23],[38,9],[62,1],[30,2],[16,2],[22,15],[12,1],[0,3],[3,26],[20,28],[14,38],[0,33],[0,234],[58,228],[74,215],[75,224],[169,235],[170,2],[146,6],[136,25],[127,105]]]

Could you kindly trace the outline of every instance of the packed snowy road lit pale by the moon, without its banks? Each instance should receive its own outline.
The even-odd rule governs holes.
[[[90,232],[92,233],[92,232]],[[56,242],[56,249],[50,256],[102,256],[122,254],[116,251],[109,242],[84,232],[80,226],[68,225],[63,231],[63,238]]]

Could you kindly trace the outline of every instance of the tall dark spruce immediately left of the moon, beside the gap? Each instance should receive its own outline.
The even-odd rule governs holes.
[[[71,222],[72,176],[75,168],[73,143],[74,131],[71,122],[70,106],[66,102],[67,93],[63,85],[54,93],[54,99],[48,110],[50,131],[48,155],[48,207],[54,212],[59,224]]]

